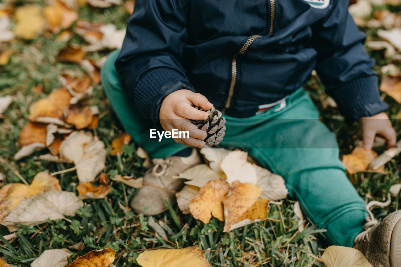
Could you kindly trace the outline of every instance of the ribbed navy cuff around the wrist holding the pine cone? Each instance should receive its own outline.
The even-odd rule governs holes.
[[[174,87],[178,83],[186,85],[188,88]],[[171,87],[174,87],[174,90],[171,90]],[[173,91],[189,89],[189,87],[191,86],[188,79],[178,71],[170,68],[152,69],[141,77],[134,89],[136,107],[145,117],[152,119],[156,125],[160,126],[158,118],[160,105],[164,97]],[[194,91],[193,88],[190,90]],[[157,105],[154,103],[157,103]]]

